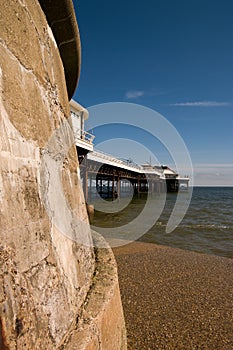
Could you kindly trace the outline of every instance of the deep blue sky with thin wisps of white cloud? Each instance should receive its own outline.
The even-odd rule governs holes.
[[[233,186],[233,1],[73,2],[82,45],[73,98],[86,108],[121,102],[158,112],[183,138],[195,185]],[[151,151],[172,166],[166,147],[139,150],[111,123],[110,113],[109,127],[94,130],[97,148],[138,163]]]

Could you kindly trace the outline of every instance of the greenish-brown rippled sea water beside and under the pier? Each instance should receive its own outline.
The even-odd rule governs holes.
[[[181,193],[184,201],[187,193]],[[101,228],[119,228],[139,217],[146,203],[146,195],[134,197],[123,209],[115,213],[96,211],[91,224]],[[153,211],[156,215],[160,206],[161,195],[154,195]],[[170,247],[192,250],[233,258],[233,187],[195,187],[186,215],[179,226],[171,233],[166,233],[166,225],[175,205],[177,195],[166,194],[166,202],[161,215],[154,225],[148,224],[153,213],[144,218],[141,225],[143,235],[139,241],[151,242]],[[109,203],[110,205],[111,203]],[[95,205],[95,203],[94,203]],[[97,206],[98,207],[98,206]],[[149,217],[150,216],[150,217]],[[148,228],[146,227],[148,224]],[[145,228],[145,230],[144,230]],[[131,232],[125,232],[125,238]]]

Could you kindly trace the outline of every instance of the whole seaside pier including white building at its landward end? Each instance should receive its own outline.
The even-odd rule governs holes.
[[[189,178],[167,166],[138,165],[94,150],[94,135],[84,130],[88,111],[73,100],[70,109],[86,202],[98,196],[115,200],[131,192],[140,195],[188,189]]]

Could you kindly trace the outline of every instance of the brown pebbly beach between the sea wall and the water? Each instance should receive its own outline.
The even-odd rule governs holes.
[[[233,260],[148,243],[115,248],[130,350],[233,350]]]

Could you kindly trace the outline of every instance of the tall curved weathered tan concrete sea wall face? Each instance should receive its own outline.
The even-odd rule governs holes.
[[[64,349],[96,269],[64,70],[38,1],[0,7],[0,346]],[[96,349],[112,304],[124,329],[110,287]]]

